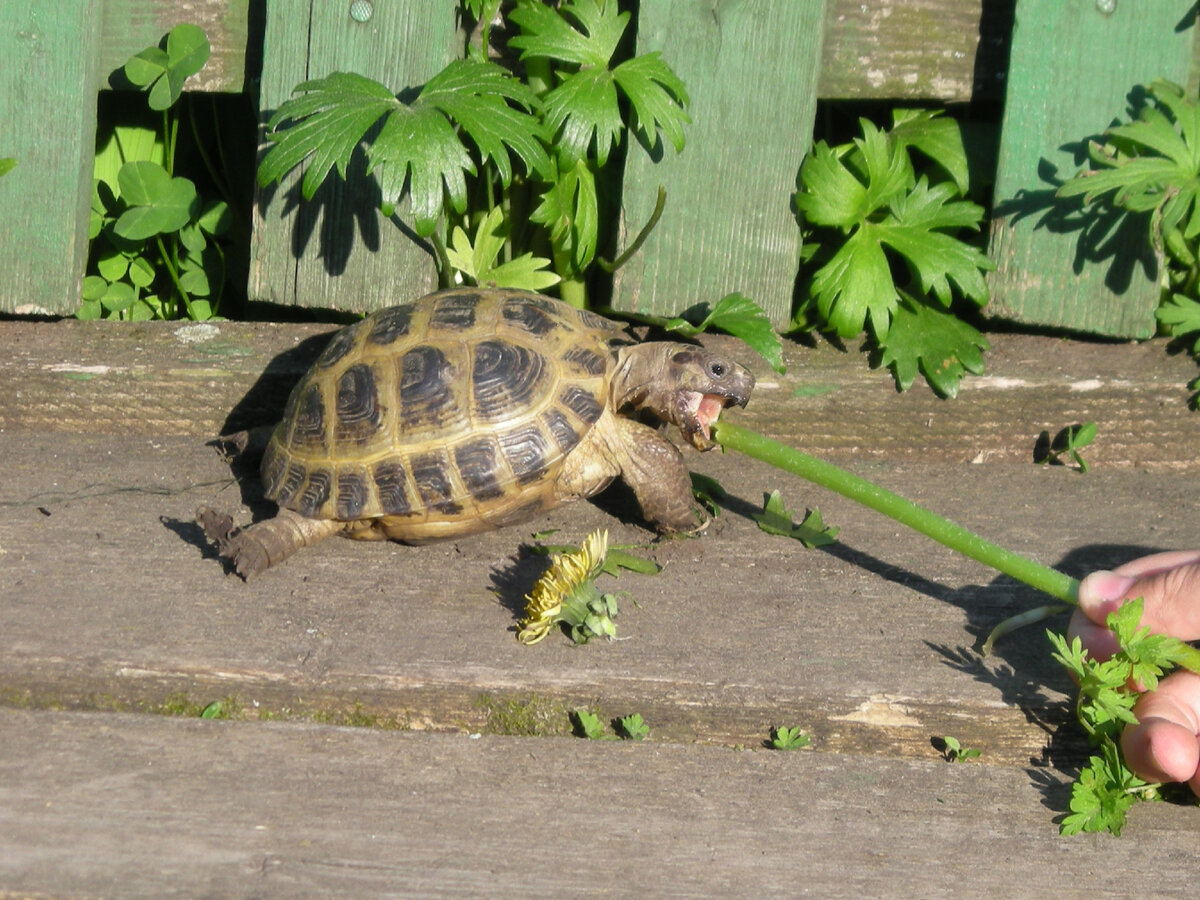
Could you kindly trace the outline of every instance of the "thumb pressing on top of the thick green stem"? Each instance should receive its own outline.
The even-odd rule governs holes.
[[[1170,634],[1184,641],[1200,637],[1200,554],[1148,557],[1141,574],[1092,572],[1079,583],[1079,608],[1097,625],[1117,611],[1124,600],[1142,598],[1141,624],[1156,634]],[[1160,568],[1171,560],[1178,565]],[[1182,562],[1181,562],[1182,560]]]

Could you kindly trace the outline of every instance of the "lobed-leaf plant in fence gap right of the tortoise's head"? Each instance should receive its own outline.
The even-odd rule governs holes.
[[[818,140],[800,167],[804,278],[793,324],[841,338],[865,330],[900,390],[919,372],[954,396],[964,373],[983,372],[988,341],[953,307],[986,304],[984,272],[995,268],[964,239],[983,209],[965,199],[961,132],[912,109],[894,110],[889,131],[865,119],[860,127],[846,144]]]

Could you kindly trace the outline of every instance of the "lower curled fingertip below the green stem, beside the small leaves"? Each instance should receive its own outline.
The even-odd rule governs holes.
[[[1176,672],[1134,707],[1138,724],[1121,734],[1129,768],[1147,781],[1187,781],[1200,778],[1200,676]]]

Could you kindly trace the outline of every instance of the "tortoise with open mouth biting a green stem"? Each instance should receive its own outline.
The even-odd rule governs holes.
[[[409,544],[528,521],[622,478],[661,532],[697,527],[683,455],[754,376],[688,343],[512,289],[461,288],[337,331],[292,390],[262,462],[278,514],[198,520],[242,577],[334,534]]]

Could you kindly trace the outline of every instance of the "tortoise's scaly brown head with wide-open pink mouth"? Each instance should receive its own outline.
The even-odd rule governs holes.
[[[709,428],[725,407],[744,407],[754,376],[727,356],[688,343],[642,343],[617,354],[614,409],[644,409],[679,426],[697,450],[710,450]]]

